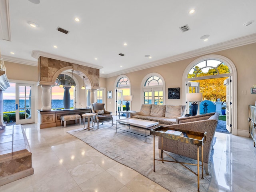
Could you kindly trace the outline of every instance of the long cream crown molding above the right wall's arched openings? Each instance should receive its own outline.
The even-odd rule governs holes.
[[[150,67],[160,66],[160,65],[196,57],[196,56],[201,56],[203,54],[209,54],[209,53],[222,51],[222,50],[226,50],[226,49],[230,49],[230,48],[235,48],[235,47],[239,47],[239,46],[243,46],[243,45],[247,45],[247,44],[252,44],[255,42],[256,42],[256,33],[250,34],[248,36],[243,36],[240,38],[232,39],[232,40],[229,40],[226,42],[214,44],[211,46],[203,47],[203,48],[196,49],[193,51],[185,52],[182,54],[166,57],[164,59],[160,59],[157,61],[142,64],[142,65],[130,68],[130,69],[126,69],[126,70],[122,70],[122,71],[118,71],[118,72],[114,72],[114,73],[110,73],[110,74],[106,74],[106,75],[100,75],[100,76],[102,76],[104,78],[110,78],[110,77],[118,76],[121,74],[126,74],[126,73],[130,73],[130,72],[134,72],[134,71],[138,71],[138,70],[142,70],[142,69],[146,69],[146,68],[150,68]]]

